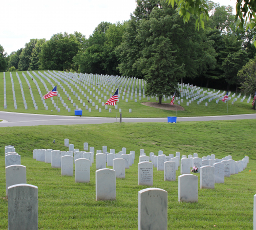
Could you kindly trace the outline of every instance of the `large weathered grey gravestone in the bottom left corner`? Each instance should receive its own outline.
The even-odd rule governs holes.
[[[38,188],[27,183],[8,187],[8,229],[38,229]]]

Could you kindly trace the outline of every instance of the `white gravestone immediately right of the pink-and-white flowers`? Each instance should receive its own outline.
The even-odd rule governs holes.
[[[200,189],[214,189],[215,176],[213,166],[201,167]]]

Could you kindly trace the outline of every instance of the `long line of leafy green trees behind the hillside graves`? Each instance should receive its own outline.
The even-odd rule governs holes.
[[[137,0],[130,20],[101,22],[86,38],[79,32],[30,39],[9,56],[0,46],[0,71],[56,70],[123,75],[147,80],[146,93],[169,94],[178,82],[238,90],[238,72],[256,49],[250,28],[236,30],[232,7],[206,1],[208,20],[195,28],[177,5],[160,0]],[[245,24],[246,28],[247,25]],[[173,93],[173,92],[172,92]]]

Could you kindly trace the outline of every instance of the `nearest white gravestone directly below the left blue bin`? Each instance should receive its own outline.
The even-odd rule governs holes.
[[[75,182],[90,182],[90,167],[89,159],[79,158],[75,160]]]

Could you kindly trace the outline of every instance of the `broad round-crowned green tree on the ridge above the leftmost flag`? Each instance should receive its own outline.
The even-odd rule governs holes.
[[[40,70],[77,71],[73,62],[74,56],[80,50],[80,43],[75,35],[68,33],[54,34],[50,40],[41,46],[39,54]]]

